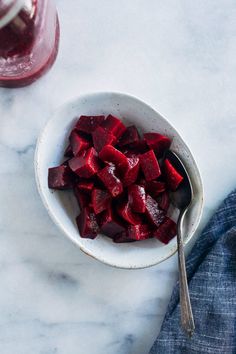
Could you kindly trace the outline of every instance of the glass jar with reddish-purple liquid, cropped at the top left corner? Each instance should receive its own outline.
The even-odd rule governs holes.
[[[37,80],[54,63],[58,44],[53,0],[0,0],[0,86]]]

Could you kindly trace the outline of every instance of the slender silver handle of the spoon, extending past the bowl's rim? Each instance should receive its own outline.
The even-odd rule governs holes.
[[[191,302],[188,291],[188,281],[185,266],[184,245],[183,245],[183,220],[186,210],[180,212],[177,227],[178,261],[179,261],[179,293],[181,324],[185,332],[191,337],[194,333],[195,325],[192,313]]]

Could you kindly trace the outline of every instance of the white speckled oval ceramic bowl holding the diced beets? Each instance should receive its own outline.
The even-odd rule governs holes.
[[[47,123],[35,154],[35,172],[39,193],[55,224],[86,254],[115,267],[144,268],[160,263],[173,255],[176,238],[168,245],[156,239],[115,244],[103,235],[95,240],[81,238],[75,223],[79,214],[72,192],[48,189],[48,168],[63,161],[68,135],[79,115],[108,115],[120,117],[126,125],[135,124],[143,132],[160,132],[173,139],[171,149],[179,154],[193,183],[194,200],[185,218],[185,243],[193,236],[202,213],[203,187],[196,162],[172,125],[144,102],[121,93],[92,93],[80,96],[59,108]],[[173,213],[171,213],[173,214]],[[176,217],[176,215],[170,215]]]

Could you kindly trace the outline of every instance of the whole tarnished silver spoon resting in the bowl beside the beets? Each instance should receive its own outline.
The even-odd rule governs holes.
[[[178,243],[178,261],[179,261],[179,289],[180,289],[180,312],[181,324],[185,332],[191,337],[194,333],[195,325],[192,313],[192,307],[189,298],[187,274],[185,267],[184,245],[183,245],[183,220],[185,214],[193,200],[193,188],[190,177],[182,161],[172,151],[168,150],[165,154],[171,164],[184,177],[182,183],[176,192],[172,192],[170,197],[172,203],[179,209],[179,218],[177,222],[177,243]]]

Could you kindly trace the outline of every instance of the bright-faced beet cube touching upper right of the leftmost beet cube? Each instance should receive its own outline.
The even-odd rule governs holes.
[[[70,169],[80,177],[89,178],[99,170],[97,152],[92,147],[69,161]]]

